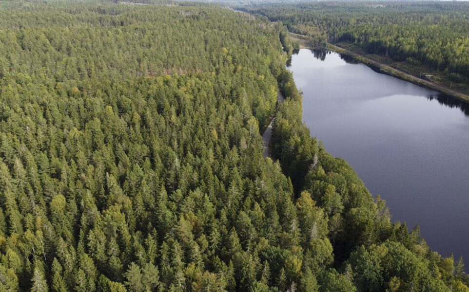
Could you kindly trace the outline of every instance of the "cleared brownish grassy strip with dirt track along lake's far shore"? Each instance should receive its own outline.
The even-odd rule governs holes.
[[[302,48],[311,49],[307,41],[301,35],[290,33],[290,36],[299,42]],[[327,49],[351,56],[352,58],[365,63],[373,70],[397,77],[411,83],[442,92],[457,99],[469,102],[469,84],[466,83],[451,83],[447,80],[442,73],[431,71],[430,69],[422,66],[414,66],[406,62],[395,62],[391,58],[380,56],[376,54],[367,54],[357,46],[349,43],[338,43],[337,45],[327,44]],[[433,76],[434,81],[421,78],[425,74]]]

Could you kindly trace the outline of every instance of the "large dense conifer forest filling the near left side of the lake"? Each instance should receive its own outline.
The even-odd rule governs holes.
[[[213,5],[1,2],[0,291],[469,291],[311,137],[292,48]]]

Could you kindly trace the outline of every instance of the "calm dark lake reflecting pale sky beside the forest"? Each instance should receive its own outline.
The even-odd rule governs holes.
[[[418,223],[431,249],[469,263],[469,105],[350,61],[293,55],[311,134],[387,201],[394,220]]]

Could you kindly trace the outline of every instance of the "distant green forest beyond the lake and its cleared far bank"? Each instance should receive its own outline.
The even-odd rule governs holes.
[[[464,2],[315,2],[247,10],[311,37],[313,46],[352,42],[371,54],[444,72],[455,82],[469,77],[469,5]]]

